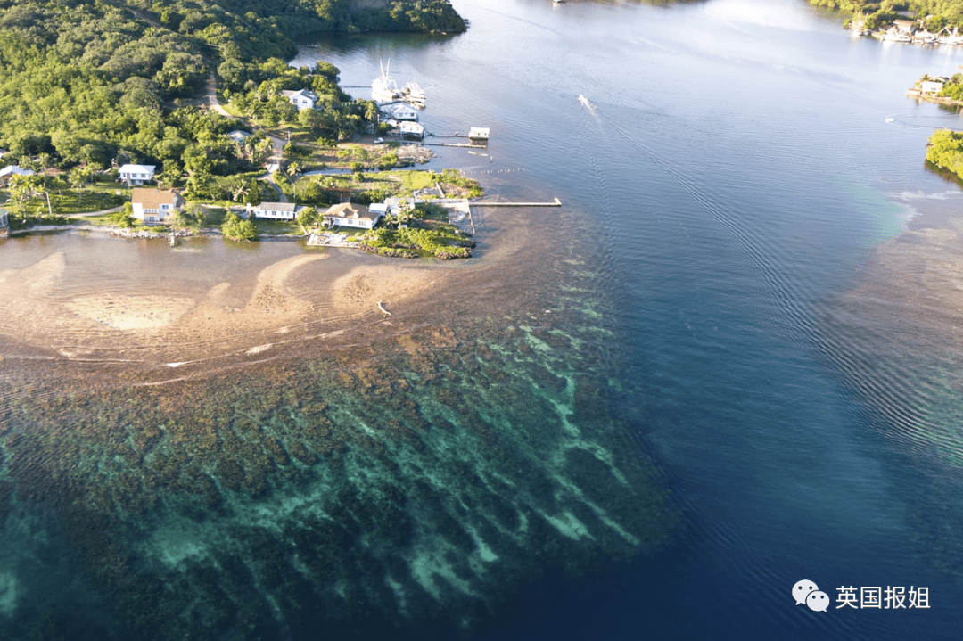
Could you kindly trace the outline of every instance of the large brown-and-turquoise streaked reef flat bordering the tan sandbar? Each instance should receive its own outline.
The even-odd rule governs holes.
[[[261,348],[255,331],[182,364],[8,359],[0,633],[471,627],[547,572],[669,544],[684,520],[619,409],[611,308],[586,294],[597,276],[513,261],[409,283],[401,312],[333,336]],[[257,282],[303,289],[301,269],[324,263]],[[365,269],[332,291],[367,306]]]

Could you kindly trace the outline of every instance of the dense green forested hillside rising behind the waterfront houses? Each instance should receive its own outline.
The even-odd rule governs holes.
[[[341,104],[333,67],[288,67],[293,38],[464,29],[448,0],[0,0],[0,147],[11,151],[5,162],[217,173],[243,155],[224,136],[229,122],[179,104],[203,95],[211,71],[222,89],[266,104],[282,89],[319,90],[328,96],[319,134],[344,138],[366,107]]]

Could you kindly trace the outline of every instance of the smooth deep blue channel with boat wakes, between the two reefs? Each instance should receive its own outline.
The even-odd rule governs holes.
[[[958,511],[957,464],[888,417],[924,385],[916,372],[854,363],[826,317],[872,279],[876,247],[959,197],[924,167],[926,137],[959,117],[904,91],[961,53],[850,39],[793,1],[455,7],[472,29],[452,41],[326,41],[300,60],[366,79],[390,57],[436,85],[429,131],[491,127],[479,170],[525,168],[506,195],[566,203],[616,300],[627,437],[657,452],[694,524],[654,558],[540,584],[485,638],[956,637],[959,569],[932,548],[959,540],[921,510]],[[888,323],[913,314],[851,321],[892,344]],[[803,577],[829,612],[794,606]],[[924,585],[932,607],[836,611],[848,585]]]

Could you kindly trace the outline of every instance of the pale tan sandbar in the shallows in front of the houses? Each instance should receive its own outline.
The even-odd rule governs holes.
[[[176,283],[148,283],[141,292],[108,283],[75,295],[76,285],[65,286],[67,261],[58,251],[0,271],[0,299],[6,301],[0,332],[68,358],[123,352],[146,361],[190,362],[261,353],[299,337],[380,321],[382,301],[403,316],[406,300],[452,271],[361,254],[342,258],[351,263],[346,270],[329,256],[298,253],[255,273],[239,269],[195,291]]]

